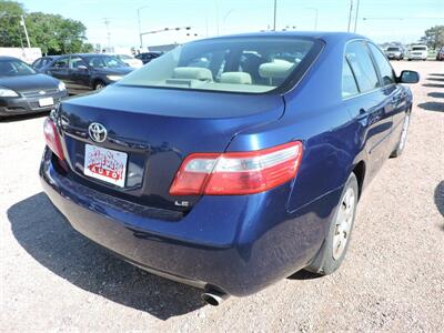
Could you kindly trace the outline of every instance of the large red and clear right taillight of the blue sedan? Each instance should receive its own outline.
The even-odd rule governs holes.
[[[172,195],[234,195],[259,193],[296,175],[302,142],[251,152],[189,155],[171,185]]]

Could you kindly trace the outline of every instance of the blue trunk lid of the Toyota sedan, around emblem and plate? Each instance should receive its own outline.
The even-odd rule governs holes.
[[[169,193],[183,159],[223,152],[238,132],[275,121],[283,111],[279,94],[117,85],[63,102],[58,117],[68,163],[79,182],[140,204],[186,211],[199,198]],[[91,123],[107,129],[107,140],[91,140]],[[128,155],[123,188],[84,174],[87,145]]]

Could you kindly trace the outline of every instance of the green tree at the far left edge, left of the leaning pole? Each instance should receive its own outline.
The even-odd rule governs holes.
[[[24,40],[23,28],[20,26],[22,6],[16,1],[0,0],[0,47],[19,48]]]

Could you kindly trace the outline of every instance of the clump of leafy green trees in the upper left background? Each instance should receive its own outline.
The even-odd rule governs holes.
[[[6,0],[0,0],[0,47],[17,48],[24,43],[20,16],[24,16],[31,47],[40,48],[43,53],[92,51],[92,46],[87,43],[87,28],[82,22],[58,14],[26,13],[20,3]]]

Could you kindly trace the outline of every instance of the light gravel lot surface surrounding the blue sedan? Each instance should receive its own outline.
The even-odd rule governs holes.
[[[444,63],[415,69],[404,155],[362,198],[339,272],[205,306],[74,232],[42,193],[42,117],[0,123],[1,329],[11,331],[441,331],[444,324]]]

